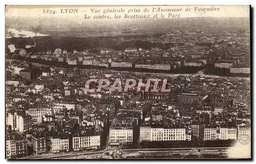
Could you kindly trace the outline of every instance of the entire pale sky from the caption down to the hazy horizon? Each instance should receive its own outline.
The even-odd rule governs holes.
[[[39,6],[40,7],[40,6]],[[47,6],[49,9],[51,6]],[[6,11],[5,27],[6,29],[14,28],[16,30],[27,30],[34,31],[36,30],[39,33],[47,35],[56,35],[65,34],[63,32],[73,31],[75,33],[81,32],[82,35],[91,35],[93,32],[106,32],[113,31],[115,34],[103,34],[102,35],[120,35],[117,34],[122,30],[130,29],[144,29],[144,30],[154,30],[154,29],[171,29],[172,27],[184,27],[184,28],[194,28],[198,29],[209,27],[235,27],[241,29],[249,29],[249,7],[248,6],[210,6],[210,8],[221,8],[220,11],[205,11],[205,12],[186,12],[187,8],[193,8],[193,6],[157,6],[160,9],[165,10],[164,12],[144,12],[144,9],[150,8],[151,6],[133,6],[138,8],[141,12],[129,13],[130,8],[126,6],[121,6],[119,8],[114,8],[115,12],[106,13],[103,15],[112,15],[110,19],[94,19],[88,18],[85,19],[84,15],[101,16],[104,10],[114,10],[108,6],[98,7],[101,13],[92,13],[90,8],[78,7],[77,13],[67,13],[62,14],[60,8],[54,8],[51,10],[58,11],[58,14],[42,14],[41,11],[45,10],[44,8],[29,8],[25,10],[24,8],[9,8]],[[195,7],[195,6],[194,6]],[[202,6],[204,8],[209,6]],[[140,9],[139,9],[140,8]],[[154,7],[151,9],[153,10]],[[22,9],[22,10],[20,10]],[[181,12],[171,12],[173,14],[180,14],[181,17],[175,18],[166,18],[169,12],[166,10],[180,10]],[[82,12],[86,10],[87,12]],[[122,13],[116,13],[116,10],[123,10]],[[14,13],[12,13],[14,11]],[[19,11],[22,11],[19,13]],[[184,11],[184,12],[183,12]],[[28,14],[28,13],[34,14]],[[225,14],[223,14],[223,12]],[[233,13],[234,12],[234,13]],[[158,13],[158,18],[154,18],[154,14]],[[221,14],[222,13],[222,14]],[[241,14],[242,13],[242,14]],[[123,18],[124,15],[150,15],[149,18]],[[165,18],[160,18],[161,14],[165,15]],[[241,14],[241,15],[239,15]],[[115,18],[116,15],[122,15],[121,18]],[[191,16],[190,16],[191,15]],[[241,17],[237,17],[237,16]],[[248,15],[248,17],[246,17]],[[184,17],[187,16],[187,17]],[[88,34],[86,34],[88,32]],[[70,33],[70,35],[72,35]],[[77,34],[75,34],[77,35]]]

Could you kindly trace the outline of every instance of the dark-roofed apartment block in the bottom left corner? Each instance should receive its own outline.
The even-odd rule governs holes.
[[[27,140],[25,135],[12,133],[6,137],[6,157],[19,158],[26,157],[28,153]]]

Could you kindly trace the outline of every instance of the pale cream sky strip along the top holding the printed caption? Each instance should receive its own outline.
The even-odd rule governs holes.
[[[219,11],[195,11],[195,7],[199,8],[219,8]],[[143,10],[147,8],[148,12],[143,12]],[[161,9],[181,9],[180,12],[153,12],[153,8],[161,8]],[[186,8],[190,8],[191,11],[185,11]],[[44,13],[47,9],[55,10],[55,14],[47,14]],[[77,13],[61,13],[65,12],[65,9],[77,9]],[[92,12],[91,9],[100,10],[100,13]],[[70,19],[81,19],[84,20],[84,15],[87,14],[91,16],[91,19],[85,20],[99,20],[93,19],[93,16],[103,15],[103,10],[106,9],[123,9],[125,12],[123,13],[106,13],[104,15],[110,15],[111,19],[114,19],[115,14],[120,14],[124,16],[124,14],[128,14],[127,12],[132,9],[140,9],[141,12],[130,12],[130,15],[134,14],[146,14],[151,15],[153,17],[155,14],[158,14],[157,18],[160,18],[160,14],[165,14],[165,18],[168,13],[180,14],[180,17],[249,17],[249,6],[6,6],[6,17],[65,17]],[[178,17],[177,17],[178,18]],[[108,20],[108,19],[105,19]]]

